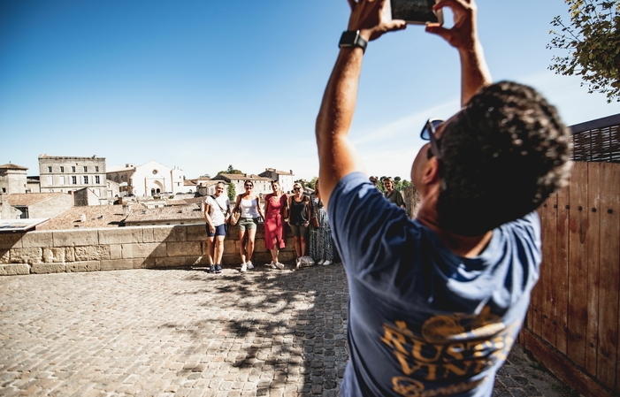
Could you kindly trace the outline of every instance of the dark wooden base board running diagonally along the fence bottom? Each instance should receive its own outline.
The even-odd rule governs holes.
[[[570,360],[547,345],[544,341],[536,338],[532,332],[524,332],[525,348],[540,361],[547,370],[560,379],[565,385],[576,389],[586,397],[616,397],[616,394],[601,386],[593,377],[580,370]]]

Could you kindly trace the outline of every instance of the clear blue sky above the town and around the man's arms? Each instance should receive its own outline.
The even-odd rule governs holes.
[[[0,2],[0,164],[157,160],[188,178],[233,164],[318,175],[314,122],[346,0]],[[620,113],[547,70],[562,0],[478,0],[494,80],[538,88],[567,125]],[[451,17],[448,14],[448,25]],[[369,43],[351,137],[375,175],[409,179],[426,118],[458,110],[456,51],[424,27]]]

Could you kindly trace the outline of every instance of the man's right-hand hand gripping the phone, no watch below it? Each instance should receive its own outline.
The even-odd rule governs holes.
[[[433,10],[448,7],[452,10],[455,24],[446,29],[437,25],[426,26],[426,32],[438,34],[451,46],[459,50],[472,50],[478,41],[476,32],[476,14],[478,7],[473,0],[441,0],[432,6]]]

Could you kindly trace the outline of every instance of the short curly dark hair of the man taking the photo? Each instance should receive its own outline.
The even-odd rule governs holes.
[[[441,135],[440,225],[475,236],[535,210],[570,172],[570,131],[531,87],[481,89]]]

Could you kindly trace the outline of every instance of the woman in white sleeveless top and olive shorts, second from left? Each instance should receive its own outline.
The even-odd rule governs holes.
[[[264,218],[261,209],[260,197],[253,192],[254,183],[246,180],[243,183],[245,193],[237,195],[237,201],[234,203],[233,213],[241,212],[241,218],[237,225],[239,226],[239,253],[241,254],[241,272],[244,273],[248,269],[254,269],[252,264],[252,254],[254,254],[254,239],[256,237],[256,228],[258,218]],[[248,247],[245,247],[245,235],[248,232]]]

